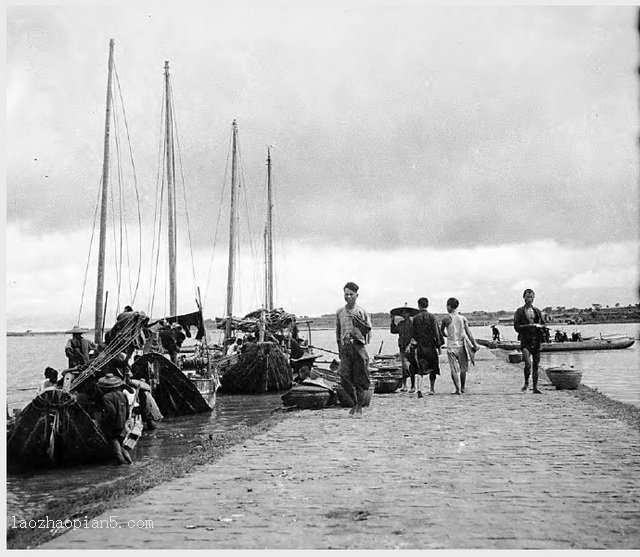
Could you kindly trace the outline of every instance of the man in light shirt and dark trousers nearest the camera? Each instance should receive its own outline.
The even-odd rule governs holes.
[[[344,285],[346,305],[336,312],[336,342],[340,353],[340,383],[355,400],[349,414],[360,418],[365,393],[369,390],[368,344],[371,333],[369,314],[356,305],[358,285],[347,282]]]

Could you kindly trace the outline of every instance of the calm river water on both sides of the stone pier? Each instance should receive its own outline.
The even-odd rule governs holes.
[[[571,327],[565,327],[570,334]],[[585,325],[583,336],[621,333],[639,338],[637,323],[615,325]],[[489,338],[489,327],[473,327],[478,338]],[[501,327],[503,337],[513,339],[511,327]],[[303,335],[304,336],[304,335]],[[7,407],[23,408],[35,395],[35,389],[43,379],[46,366],[64,369],[66,358],[63,335],[31,337],[7,337]],[[335,351],[335,335],[332,330],[314,330],[311,344]],[[567,363],[583,371],[583,383],[595,387],[604,394],[640,406],[640,349],[639,342],[624,350],[565,352],[542,354],[542,366]],[[397,337],[388,329],[374,329],[370,354],[393,353],[397,350]],[[486,348],[483,348],[486,350]],[[330,361],[333,354],[322,352]],[[321,358],[322,359],[322,358]],[[149,461],[167,459],[184,454],[197,445],[203,435],[217,435],[240,425],[257,423],[281,406],[280,394],[252,396],[219,395],[210,414],[173,418],[161,422],[158,429],[145,433],[138,443],[133,467],[93,465],[69,470],[44,470],[14,472],[7,475],[7,519],[13,516],[35,516],[47,503],[62,495],[80,493],[94,485],[106,484],[131,474]]]

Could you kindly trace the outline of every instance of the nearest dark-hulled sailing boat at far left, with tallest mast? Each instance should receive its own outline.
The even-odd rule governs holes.
[[[104,260],[106,245],[106,215],[109,187],[109,135],[112,108],[112,76],[114,41],[109,42],[107,102],[102,167],[102,203],[100,212],[100,243],[95,305],[95,340],[102,341],[104,308]],[[117,341],[118,351],[133,342],[144,320],[136,318]],[[107,363],[115,351],[105,351],[88,369],[64,389],[49,389],[39,393],[18,415],[7,436],[9,463],[27,466],[53,466],[77,462],[106,461],[115,457],[114,449],[102,430],[80,404],[86,392],[92,390],[93,373]]]

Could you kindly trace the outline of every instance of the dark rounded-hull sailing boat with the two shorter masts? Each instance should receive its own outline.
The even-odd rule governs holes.
[[[236,221],[238,188],[238,128],[232,125],[231,142],[231,216],[229,224],[229,265],[227,275],[226,318],[219,320],[218,327],[224,327],[225,343],[232,336],[233,288],[235,278]],[[293,372],[289,359],[273,336],[276,329],[289,325],[291,319],[273,307],[273,224],[271,190],[271,151],[267,149],[267,224],[265,230],[265,302],[264,308],[246,317],[253,317],[253,329],[245,328],[258,335],[257,342],[246,344],[240,354],[222,357],[216,362],[220,373],[221,390],[225,393],[263,393],[288,389],[293,382]],[[258,317],[259,316],[259,317]],[[255,320],[255,317],[258,317]],[[279,319],[284,317],[284,319]],[[271,318],[271,319],[269,319]],[[288,323],[286,322],[289,319]],[[279,323],[277,321],[280,321]],[[271,326],[270,326],[271,325]]]

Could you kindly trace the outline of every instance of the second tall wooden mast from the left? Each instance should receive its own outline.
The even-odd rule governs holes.
[[[164,63],[165,83],[165,158],[167,161],[167,221],[169,243],[169,314],[176,315],[176,202],[175,202],[175,160],[173,154],[173,112],[171,108],[171,87],[169,85],[169,62]]]

